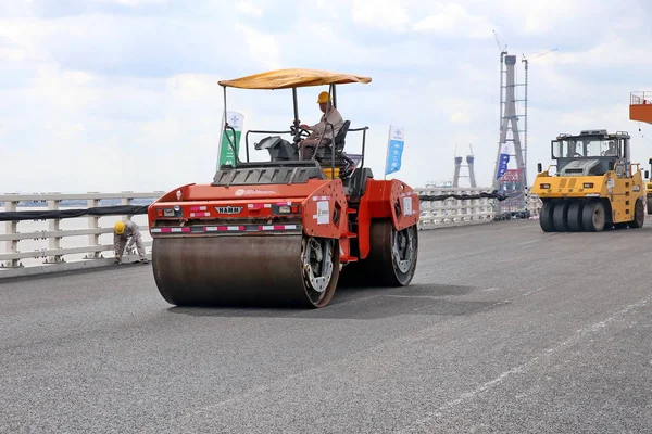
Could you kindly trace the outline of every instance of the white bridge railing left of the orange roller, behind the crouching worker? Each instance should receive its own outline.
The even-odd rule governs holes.
[[[62,194],[62,193],[45,193],[45,194],[0,194],[0,203],[3,203],[4,213],[17,213],[25,209],[27,205],[29,208],[37,208],[39,212],[57,212],[61,209],[62,202],[66,201],[86,201],[86,206],[66,206],[65,208],[98,208],[102,200],[120,200],[122,206],[129,206],[134,200],[147,199],[155,200],[160,197],[163,192],[121,192],[121,193],[85,193],[85,194]],[[42,204],[39,206],[38,204]],[[30,212],[33,212],[30,209]],[[87,227],[84,229],[62,229],[61,222],[65,218],[35,218],[35,219],[21,219],[16,221],[4,221],[4,233],[0,233],[0,241],[5,244],[4,253],[0,253],[0,276],[3,275],[2,269],[16,269],[22,268],[21,259],[39,259],[45,258],[43,264],[57,265],[65,263],[64,256],[75,254],[86,254],[85,260],[101,261],[103,258],[103,252],[113,252],[113,242],[101,244],[100,235],[104,233],[113,233],[113,225],[111,227],[101,227],[100,219],[103,217],[117,217],[122,220],[130,220],[133,214],[112,213],[102,215],[84,215],[82,217],[71,217],[70,219],[86,220]],[[48,221],[47,230],[33,230],[27,232],[20,232],[18,229],[26,222],[33,224],[34,221]],[[113,220],[114,221],[114,220]],[[34,225],[32,225],[34,226]],[[143,228],[141,232],[145,234],[147,228]],[[64,238],[87,235],[86,245],[78,245],[74,247],[62,247],[61,241]],[[47,247],[34,248],[25,252],[21,252],[21,241],[39,241],[47,240]],[[146,247],[151,246],[151,241],[143,241]],[[131,252],[126,252],[127,255]],[[113,260],[113,253],[110,255],[110,259]],[[9,275],[9,273],[8,273]]]

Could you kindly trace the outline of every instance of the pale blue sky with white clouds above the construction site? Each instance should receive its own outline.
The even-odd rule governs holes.
[[[518,81],[522,54],[557,49],[530,63],[530,180],[537,162],[550,163],[555,135],[586,128],[628,130],[647,166],[652,128],[639,132],[628,102],[629,92],[652,90],[651,15],[643,0],[3,1],[0,190],[208,182],[223,110],[217,81],[280,67],[373,78],[340,87],[338,103],[353,126],[371,128],[366,163],[376,177],[394,124],[406,143],[392,177],[414,187],[451,179],[455,144],[465,154],[471,143],[478,183],[490,186],[499,140],[493,30],[518,58]],[[300,91],[302,120],[318,118],[321,90]],[[244,114],[246,129],[292,120],[289,91],[229,91],[229,108]],[[348,149],[359,150],[358,139]]]

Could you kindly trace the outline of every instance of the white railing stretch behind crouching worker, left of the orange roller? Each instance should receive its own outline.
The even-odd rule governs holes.
[[[0,195],[0,202],[3,202],[4,206],[3,208],[0,207],[0,212],[95,208],[100,206],[101,201],[105,200],[117,200],[120,205],[133,205],[134,200],[153,201],[162,194],[163,192],[2,194]],[[61,203],[64,201],[84,201],[84,205],[75,204],[62,207]],[[22,203],[40,203],[42,205],[20,206]],[[147,215],[84,216],[4,221],[4,231],[0,231],[0,242],[4,242],[4,251],[0,251],[0,277],[22,275],[24,272],[10,273],[8,270],[34,268],[34,266],[39,265],[38,259],[42,259],[41,265],[49,266],[52,269],[77,269],[87,266],[106,265],[109,261],[112,264],[113,225],[120,219],[136,221],[141,227],[145,246],[151,246],[151,238],[147,231]],[[105,252],[111,252],[106,258],[103,255]],[[125,259],[130,260],[133,254],[133,248],[126,252]],[[64,265],[66,257],[80,260],[71,267],[52,267]],[[37,268],[42,269],[43,267]]]

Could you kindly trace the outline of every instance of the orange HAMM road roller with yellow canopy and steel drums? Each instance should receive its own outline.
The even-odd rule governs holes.
[[[165,301],[177,306],[298,306],[321,308],[342,277],[369,286],[408,285],[418,254],[419,197],[399,180],[374,179],[364,167],[367,127],[327,123],[306,148],[311,131],[299,120],[297,89],[328,86],[321,95],[337,108],[336,86],[371,78],[314,69],[281,69],[220,81],[224,88],[291,89],[289,131],[244,136],[240,161],[236,130],[225,116],[230,161],[211,183],[171,190],[148,208],[152,269]],[[327,98],[326,98],[327,97]],[[330,108],[328,108],[330,110]],[[325,117],[328,119],[328,117]],[[239,132],[239,131],[238,131]],[[289,133],[291,141],[281,138]],[[362,133],[362,153],[344,152],[347,136]],[[249,159],[249,135],[269,161]],[[309,142],[309,141],[306,141]]]

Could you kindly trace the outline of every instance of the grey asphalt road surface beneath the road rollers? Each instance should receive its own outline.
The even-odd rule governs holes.
[[[0,432],[652,432],[652,227],[419,235],[411,286],[319,310],[172,307],[151,265],[0,281]]]

